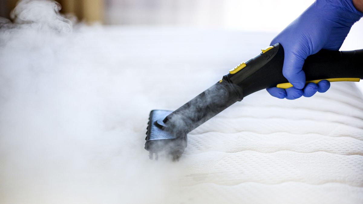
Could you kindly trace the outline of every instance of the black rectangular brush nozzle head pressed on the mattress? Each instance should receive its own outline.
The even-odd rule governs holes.
[[[164,120],[170,113],[172,111],[168,110],[150,112],[145,138],[145,149],[149,151],[150,159],[157,160],[159,153],[162,153],[170,156],[172,160],[178,160],[187,147],[187,132],[183,131],[183,127],[170,125]]]

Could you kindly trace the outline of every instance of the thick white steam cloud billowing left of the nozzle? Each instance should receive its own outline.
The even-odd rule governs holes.
[[[0,21],[0,203],[174,203],[180,164],[143,149],[152,79],[59,10],[23,0]]]

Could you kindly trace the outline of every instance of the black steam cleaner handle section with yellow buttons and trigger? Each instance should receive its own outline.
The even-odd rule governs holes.
[[[262,49],[255,58],[242,62],[229,70],[219,82],[232,83],[238,97],[269,87],[287,89],[291,83],[282,75],[284,65],[284,48],[277,43]],[[355,81],[363,78],[363,49],[353,51],[320,50],[304,62],[303,71],[306,83],[326,79],[330,82]],[[235,86],[237,85],[237,86]]]

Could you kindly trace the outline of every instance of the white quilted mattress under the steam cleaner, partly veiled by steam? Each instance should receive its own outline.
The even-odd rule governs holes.
[[[363,203],[352,82],[294,101],[259,91],[192,131],[179,162],[148,160],[149,111],[183,105],[273,33],[25,28],[1,33],[0,203]]]

